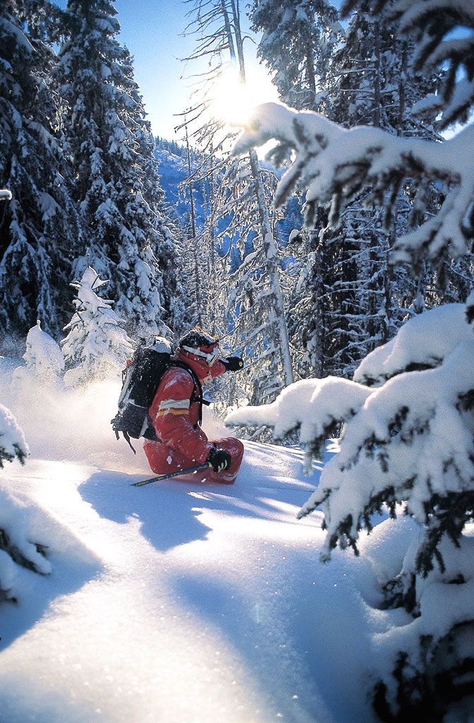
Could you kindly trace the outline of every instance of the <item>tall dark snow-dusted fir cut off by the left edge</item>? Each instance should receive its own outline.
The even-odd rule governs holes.
[[[0,328],[25,338],[38,317],[59,333],[79,236],[51,70],[58,8],[0,4]]]

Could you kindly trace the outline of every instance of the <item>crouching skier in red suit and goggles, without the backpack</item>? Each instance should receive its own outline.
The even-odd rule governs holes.
[[[143,445],[155,474],[169,474],[208,462],[212,468],[192,474],[193,481],[233,484],[236,480],[244,455],[242,442],[236,437],[210,441],[199,426],[202,384],[244,366],[238,356],[218,359],[218,345],[218,338],[200,327],[192,329],[179,342],[176,363],[182,366],[170,367],[165,372],[150,407],[157,440],[145,440]]]

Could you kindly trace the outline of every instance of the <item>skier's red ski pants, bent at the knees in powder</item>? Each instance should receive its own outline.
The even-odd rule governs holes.
[[[217,482],[217,484],[233,484],[236,481],[244,456],[244,445],[241,440],[236,437],[224,437],[222,440],[212,440],[212,444],[230,454],[232,458],[230,467],[221,472],[215,472],[212,467],[199,469],[192,474],[180,475],[178,479],[182,479],[184,482]],[[162,442],[145,440],[143,449],[150,468],[155,474],[171,474],[171,472],[188,469],[199,464],[196,460],[186,457],[182,452],[170,449]]]

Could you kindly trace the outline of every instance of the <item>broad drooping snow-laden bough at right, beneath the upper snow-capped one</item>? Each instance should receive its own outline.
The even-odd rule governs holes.
[[[474,387],[473,353],[474,340],[467,341],[440,367],[389,380],[348,421],[339,455],[299,515],[324,502],[327,555],[342,533],[355,547],[367,509],[375,511],[371,500],[407,502],[426,524],[434,495],[472,489],[473,438],[463,401]]]

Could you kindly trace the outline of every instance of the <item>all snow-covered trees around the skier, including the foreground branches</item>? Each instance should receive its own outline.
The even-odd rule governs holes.
[[[82,388],[154,335],[208,328],[246,360],[215,403],[225,424],[301,445],[308,469],[337,440],[300,513],[324,511],[322,560],[358,555],[383,510],[418,523],[382,586],[416,619],[432,570],[461,593],[473,576],[443,556],[449,541],[467,560],[474,521],[473,0],[187,8],[188,61],[208,72],[178,147],[152,137],[113,0],[0,0],[0,353],[41,330],[54,374]],[[281,103],[229,129],[212,93],[228,64],[245,82],[243,12]],[[25,456],[20,433],[1,453]],[[382,720],[435,680],[433,720],[469,709],[471,613],[396,651]]]

